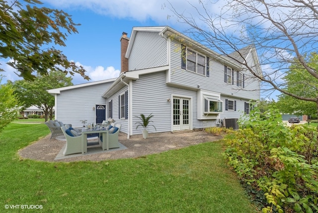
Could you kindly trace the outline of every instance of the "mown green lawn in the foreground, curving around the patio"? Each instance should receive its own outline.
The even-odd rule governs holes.
[[[44,124],[17,123],[1,132],[1,212],[5,205],[42,205],[34,212],[255,212],[222,157],[221,141],[136,159],[20,159],[18,149],[48,133]]]

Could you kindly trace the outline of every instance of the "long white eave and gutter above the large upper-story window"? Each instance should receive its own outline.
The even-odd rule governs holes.
[[[199,52],[204,53],[205,55],[209,56],[210,58],[213,58],[227,66],[231,66],[235,69],[241,70],[241,65],[238,63],[233,63],[230,61],[229,58],[220,55],[219,53],[211,50],[210,48],[200,44],[199,42],[189,38],[186,35],[183,35],[182,33],[170,28],[170,27],[165,27],[161,32],[161,36],[168,38],[168,37],[173,37],[174,39],[182,40],[185,45],[191,46],[191,49],[197,50]]]

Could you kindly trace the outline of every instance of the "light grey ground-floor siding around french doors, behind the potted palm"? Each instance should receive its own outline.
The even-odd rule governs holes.
[[[147,88],[147,89],[145,89]],[[177,87],[170,87],[165,84],[165,72],[143,75],[133,84],[133,134],[141,134],[142,128],[136,130],[136,122],[139,119],[135,116],[140,116],[141,113],[148,116],[153,113],[154,121],[150,126],[149,132],[167,132],[171,131],[171,108],[172,97],[192,98],[192,119],[193,126],[198,126],[197,117],[197,91],[186,90]],[[170,102],[167,100],[170,99]]]

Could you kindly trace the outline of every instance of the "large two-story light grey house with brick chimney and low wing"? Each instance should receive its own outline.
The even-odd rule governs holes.
[[[260,99],[260,81],[242,65],[166,26],[134,27],[121,39],[117,79],[49,90],[55,118],[74,126],[112,117],[128,138],[141,134],[136,116],[153,113],[150,132],[192,130],[249,113]],[[181,51],[182,50],[182,51]],[[254,47],[240,50],[261,73]],[[234,54],[235,56],[235,54]]]

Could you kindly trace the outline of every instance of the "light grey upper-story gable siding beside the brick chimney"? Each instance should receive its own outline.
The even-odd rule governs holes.
[[[137,32],[128,63],[129,70],[167,65],[167,40],[158,32]]]

